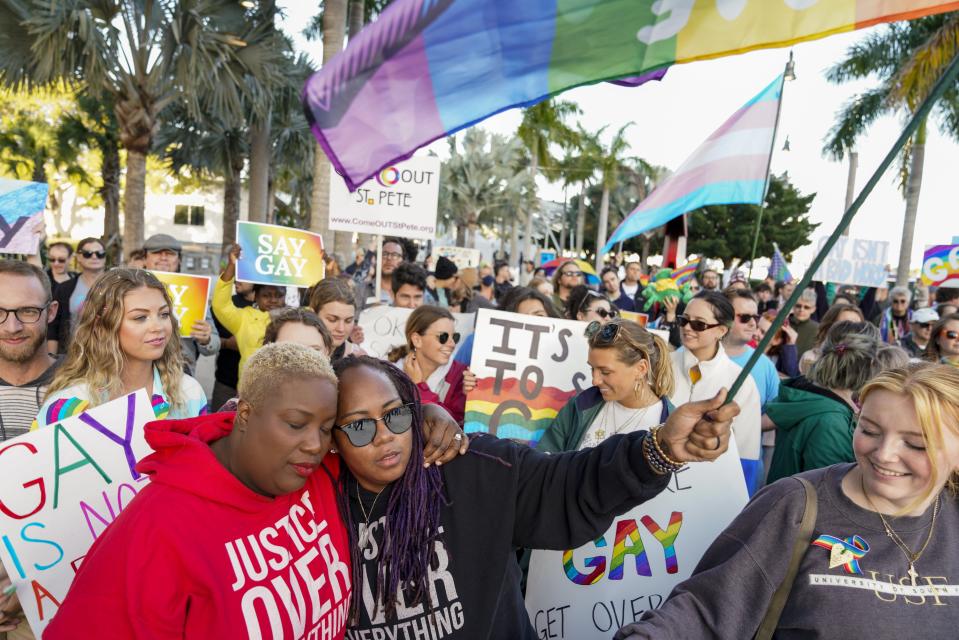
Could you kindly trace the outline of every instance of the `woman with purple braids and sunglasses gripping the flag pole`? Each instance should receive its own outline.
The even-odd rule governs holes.
[[[722,392],[595,449],[549,455],[478,436],[460,460],[424,467],[419,396],[406,374],[369,357],[334,368],[333,439],[345,463],[336,482],[353,584],[346,637],[354,640],[536,638],[515,549],[595,538],[685,463],[722,454],[739,413],[721,406]]]

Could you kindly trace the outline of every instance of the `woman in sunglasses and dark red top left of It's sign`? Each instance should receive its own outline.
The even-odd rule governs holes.
[[[476,376],[453,360],[460,341],[453,314],[442,307],[424,305],[406,320],[406,344],[387,358],[419,388],[424,404],[438,404],[463,424],[466,394],[476,388]]]

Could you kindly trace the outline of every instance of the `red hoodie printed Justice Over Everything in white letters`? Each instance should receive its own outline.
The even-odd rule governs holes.
[[[146,426],[151,482],[90,548],[45,639],[343,638],[350,554],[330,477],[254,493],[209,447],[232,428],[223,413]]]

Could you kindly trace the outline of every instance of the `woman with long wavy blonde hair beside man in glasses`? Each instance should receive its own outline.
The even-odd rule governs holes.
[[[206,410],[200,383],[183,373],[173,303],[156,276],[113,269],[90,289],[66,360],[57,371],[37,425],[146,389],[158,418]]]

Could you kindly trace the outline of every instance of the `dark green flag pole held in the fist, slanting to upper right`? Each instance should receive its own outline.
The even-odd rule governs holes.
[[[806,287],[809,286],[809,283],[812,282],[813,276],[815,276],[816,271],[819,270],[819,267],[822,265],[823,261],[825,261],[826,256],[829,255],[829,252],[832,251],[836,241],[839,240],[839,236],[841,236],[843,231],[849,227],[852,219],[856,217],[857,213],[859,213],[859,209],[862,208],[862,205],[866,202],[866,198],[869,197],[869,194],[872,193],[872,190],[875,188],[876,184],[879,183],[880,178],[882,178],[883,174],[886,173],[889,165],[895,161],[896,157],[899,155],[899,151],[916,132],[916,129],[919,128],[919,124],[926,118],[926,116],[929,115],[929,112],[932,110],[933,106],[935,106],[939,98],[942,97],[949,87],[955,85],[957,79],[959,79],[959,54],[952,59],[952,62],[950,62],[949,66],[946,67],[942,77],[939,78],[939,81],[936,83],[935,87],[933,87],[932,92],[930,92],[929,96],[923,100],[919,108],[916,109],[916,112],[906,124],[906,128],[903,129],[902,133],[899,135],[899,139],[896,140],[896,143],[892,146],[892,149],[889,150],[889,153],[886,154],[886,157],[883,158],[883,161],[879,164],[879,166],[876,168],[876,171],[869,178],[869,181],[866,183],[866,186],[863,187],[863,190],[859,193],[859,196],[856,198],[855,202],[853,202],[852,206],[850,206],[849,209],[846,210],[846,213],[843,214],[842,219],[839,221],[839,225],[832,232],[832,235],[829,236],[829,240],[826,241],[826,244],[823,245],[823,248],[813,259],[812,264],[809,265],[809,268],[806,270],[806,274],[796,285],[796,289],[793,291],[793,294],[789,296],[789,300],[787,300],[783,305],[783,308],[779,310],[779,314],[766,331],[766,335],[763,336],[763,339],[756,346],[756,350],[753,351],[753,354],[749,357],[749,360],[743,367],[739,377],[736,378],[732,388],[730,388],[729,394],[726,396],[727,403],[732,402],[740,387],[743,386],[743,383],[746,381],[746,377],[749,375],[750,370],[759,360],[759,356],[766,351],[766,347],[769,346],[773,336],[775,336],[779,331],[779,328],[782,327],[783,322],[788,317],[793,305],[796,304],[796,302],[799,300],[799,296],[802,295],[802,292],[806,289]]]

